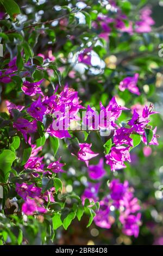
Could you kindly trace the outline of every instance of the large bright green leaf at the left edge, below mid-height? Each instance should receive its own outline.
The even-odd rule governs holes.
[[[2,175],[0,176],[0,181],[1,182],[6,182],[9,178],[9,171],[11,170],[11,166],[12,163],[14,162],[14,160],[16,159],[16,156],[14,154],[14,152],[12,152],[9,149],[5,149],[2,151],[2,153],[0,154],[0,169],[2,170],[3,175],[3,179],[2,179]]]

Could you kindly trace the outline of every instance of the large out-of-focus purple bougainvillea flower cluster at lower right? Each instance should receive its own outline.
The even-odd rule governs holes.
[[[88,184],[83,194],[83,199],[86,197],[90,200],[99,200],[98,190],[100,184]],[[109,184],[110,194],[100,200],[100,208],[94,219],[96,225],[101,228],[111,228],[115,222],[116,213],[118,210],[120,217],[119,221],[122,224],[122,231],[126,235],[139,235],[139,226],[141,224],[140,205],[136,197],[134,197],[134,189],[129,187],[128,181],[121,183],[117,179],[113,179]]]

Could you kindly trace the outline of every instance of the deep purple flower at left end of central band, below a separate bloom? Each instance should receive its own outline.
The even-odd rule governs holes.
[[[46,112],[46,107],[43,106],[41,102],[41,96],[27,108],[27,112],[36,120],[42,121],[43,115]]]

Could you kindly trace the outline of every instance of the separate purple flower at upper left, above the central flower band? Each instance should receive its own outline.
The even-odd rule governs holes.
[[[41,94],[42,96],[44,96],[41,91],[41,88],[39,87],[42,82],[43,82],[43,79],[38,82],[34,82],[34,83],[30,83],[28,81],[23,82],[22,90],[23,90],[24,94],[29,95],[29,96]]]

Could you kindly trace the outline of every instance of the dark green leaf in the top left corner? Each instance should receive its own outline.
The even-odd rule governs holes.
[[[10,19],[15,21],[16,16],[21,13],[17,3],[14,0],[1,0],[1,3],[9,14]]]

